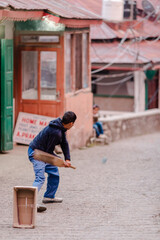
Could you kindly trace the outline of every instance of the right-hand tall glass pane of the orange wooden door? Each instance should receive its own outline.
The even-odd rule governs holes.
[[[41,99],[56,100],[57,53],[41,52]]]

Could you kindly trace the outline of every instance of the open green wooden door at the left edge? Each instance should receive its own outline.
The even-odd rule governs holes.
[[[13,148],[13,40],[0,40],[0,151]]]

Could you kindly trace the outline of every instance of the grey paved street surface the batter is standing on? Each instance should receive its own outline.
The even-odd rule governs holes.
[[[27,149],[0,154],[1,240],[160,239],[160,132],[72,151],[77,169],[60,168],[63,202],[37,213],[34,229],[18,229],[13,187],[34,180]]]

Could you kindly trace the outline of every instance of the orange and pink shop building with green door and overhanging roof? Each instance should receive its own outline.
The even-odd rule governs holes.
[[[42,2],[41,8],[45,9],[46,2]],[[7,12],[3,6],[1,151],[13,148],[19,112],[56,118],[65,111],[74,111],[77,121],[68,135],[71,148],[84,146],[92,134],[89,27],[101,20],[66,1],[60,8],[56,1],[51,4],[50,12],[31,11],[27,3],[26,8],[15,5],[14,11]]]

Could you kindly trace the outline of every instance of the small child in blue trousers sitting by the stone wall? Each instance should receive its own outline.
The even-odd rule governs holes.
[[[96,137],[104,138],[105,135],[103,134],[103,125],[101,122],[98,121],[99,117],[99,106],[98,105],[93,105],[93,128],[96,131]]]

